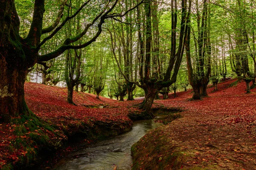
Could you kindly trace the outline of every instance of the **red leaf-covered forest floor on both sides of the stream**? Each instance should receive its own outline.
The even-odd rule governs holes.
[[[181,118],[151,131],[134,144],[133,168],[256,169],[256,89],[245,94],[244,82],[229,87],[235,81],[218,84],[219,90],[214,92],[209,87],[209,97],[199,101],[188,100],[191,90],[179,92],[175,98],[170,94],[169,99],[155,100],[153,108],[178,107],[184,111],[177,113]],[[75,106],[66,102],[66,88],[32,82],[25,83],[25,99],[33,113],[64,132],[56,136],[56,130],[44,129],[47,139],[83,135],[87,143],[130,130],[132,121],[128,114],[138,112],[132,105],[141,102],[118,102],[104,97],[98,100],[96,95],[74,92]],[[26,127],[28,131],[23,132],[17,127],[0,124],[0,169],[7,164],[24,166],[37,160],[38,148],[44,150],[40,141],[32,139],[31,134],[40,136],[39,131]],[[30,147],[23,147],[22,140],[31,142]],[[72,149],[65,147],[58,156]]]

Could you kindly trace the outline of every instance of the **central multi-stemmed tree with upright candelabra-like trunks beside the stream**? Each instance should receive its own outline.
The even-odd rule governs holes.
[[[143,11],[145,12],[145,30],[141,29],[142,23],[142,9],[137,8],[137,34],[138,34],[138,43],[140,46],[139,54],[139,82],[130,81],[125,74],[122,72],[120,65],[118,64],[119,70],[122,75],[125,77],[127,82],[132,82],[138,85],[140,88],[143,88],[145,91],[145,99],[140,104],[139,108],[142,109],[142,113],[139,115],[142,119],[150,119],[153,117],[151,113],[151,106],[154,101],[154,97],[157,93],[157,90],[169,87],[176,82],[177,73],[180,68],[180,63],[182,61],[183,51],[184,51],[184,42],[186,37],[187,29],[186,23],[190,15],[190,8],[187,8],[187,0],[181,1],[181,19],[180,19],[180,34],[179,42],[176,51],[176,26],[177,26],[177,0],[172,0],[172,46],[171,53],[169,55],[168,68],[163,73],[163,79],[158,77],[158,66],[157,66],[157,57],[158,55],[153,55],[151,52],[152,47],[152,26],[151,26],[151,3],[145,2]],[[157,4],[154,4],[157,5]],[[156,8],[156,7],[154,7]],[[155,30],[155,29],[153,29]],[[111,34],[112,37],[112,34]],[[157,41],[157,37],[155,37]],[[111,38],[113,40],[113,38]],[[158,42],[156,42],[158,44]],[[157,53],[157,48],[154,49],[154,54]],[[115,51],[115,45],[112,43],[112,51]],[[113,53],[114,54],[114,53]],[[117,57],[114,54],[114,57],[117,61]],[[152,64],[151,61],[154,63]]]

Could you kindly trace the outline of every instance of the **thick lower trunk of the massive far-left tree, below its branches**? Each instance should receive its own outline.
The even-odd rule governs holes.
[[[20,114],[30,116],[33,113],[29,111],[24,99],[26,71],[16,66],[10,67],[6,60],[0,56],[0,122],[8,123],[12,117]]]

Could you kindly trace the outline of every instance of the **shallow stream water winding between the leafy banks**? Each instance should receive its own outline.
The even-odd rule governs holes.
[[[131,170],[131,146],[148,130],[163,125],[154,122],[155,119],[136,121],[129,132],[71,153],[61,159],[52,170],[113,170],[113,164],[118,170]]]

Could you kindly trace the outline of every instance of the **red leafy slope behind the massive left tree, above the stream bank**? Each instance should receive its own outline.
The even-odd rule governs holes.
[[[27,82],[25,84],[25,99],[28,107],[33,113],[44,120],[61,122],[68,120],[76,124],[79,121],[115,121],[129,122],[127,114],[134,108],[117,108],[118,101],[96,95],[74,91],[73,102],[77,105],[67,103],[67,89],[37,83]],[[122,102],[121,102],[122,103]],[[100,109],[99,106],[108,106]],[[95,106],[97,108],[87,108]],[[116,107],[115,107],[116,106]]]

